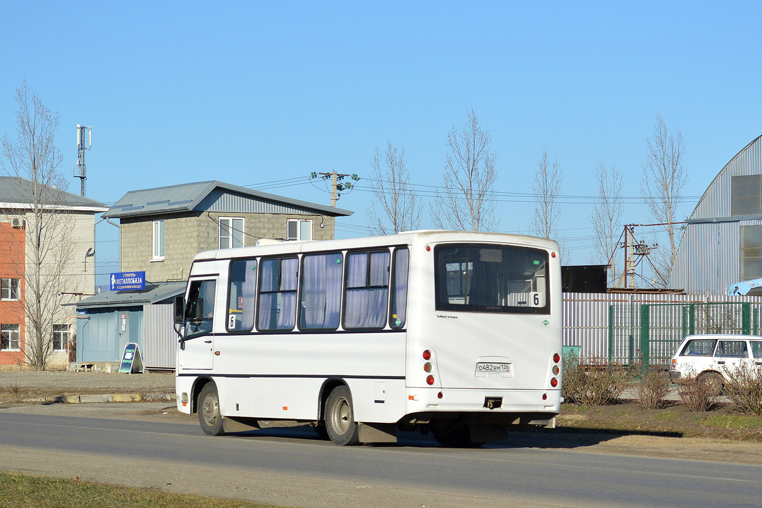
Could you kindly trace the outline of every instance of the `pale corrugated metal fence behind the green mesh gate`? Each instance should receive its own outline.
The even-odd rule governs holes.
[[[667,303],[751,302],[762,305],[762,297],[728,297],[697,294],[594,294],[564,293],[564,346],[580,346],[585,358],[609,357],[609,307],[613,306],[615,350],[612,358],[628,362],[636,358],[640,342],[640,305]],[[679,308],[679,307],[678,307]],[[682,315],[680,314],[681,317]],[[762,314],[760,314],[762,316]],[[675,317],[677,319],[678,317]],[[674,338],[664,330],[674,330],[668,313],[652,317],[652,340],[664,340],[664,346],[655,346],[652,357],[666,355]],[[661,331],[660,331],[661,330]],[[712,330],[696,329],[696,333]],[[729,330],[728,330],[729,331]],[[661,334],[661,335],[660,335]],[[629,338],[632,336],[632,339]],[[664,349],[663,351],[661,349]],[[669,353],[671,355],[671,352]]]

